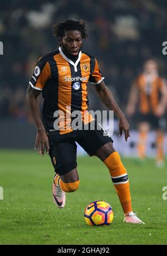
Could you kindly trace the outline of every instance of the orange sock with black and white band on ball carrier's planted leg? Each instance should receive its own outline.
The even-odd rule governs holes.
[[[119,153],[110,154],[104,161],[109,168],[112,182],[114,183],[117,195],[119,196],[122,209],[127,214],[132,211],[129,180],[125,167],[122,165]]]

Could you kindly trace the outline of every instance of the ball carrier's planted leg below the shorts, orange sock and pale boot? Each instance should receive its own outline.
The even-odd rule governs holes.
[[[104,146],[97,150],[95,155],[105,163],[107,168],[109,168],[112,182],[114,183],[117,195],[119,196],[119,200],[124,211],[124,221],[127,223],[143,223],[143,221],[137,218],[134,212],[132,212],[130,186],[127,172],[121,162],[119,153],[116,152],[112,146],[112,142],[104,144]]]

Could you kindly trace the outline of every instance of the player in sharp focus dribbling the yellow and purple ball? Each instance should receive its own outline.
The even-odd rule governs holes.
[[[37,61],[26,96],[37,128],[35,149],[38,148],[43,156],[46,148],[55,168],[53,201],[62,208],[65,206],[65,193],[78,189],[77,142],[90,156],[99,157],[109,168],[124,211],[124,221],[143,223],[132,211],[129,180],[119,153],[112,146],[112,139],[98,129],[101,124],[88,112],[87,83],[90,81],[101,101],[109,110],[115,111],[120,135],[124,131],[125,140],[130,137],[129,124],[105,86],[97,60],[81,51],[82,39],[87,38],[85,23],[79,19],[57,23],[54,34],[60,46]],[[37,103],[41,91],[45,99],[42,120]],[[72,128],[72,115],[76,110],[81,113],[81,123],[87,129]],[[95,123],[94,130],[91,129],[92,122]]]

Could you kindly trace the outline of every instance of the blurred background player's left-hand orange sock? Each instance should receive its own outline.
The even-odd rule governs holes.
[[[139,133],[139,141],[137,143],[137,155],[141,159],[145,158],[147,138],[148,138],[147,132]]]

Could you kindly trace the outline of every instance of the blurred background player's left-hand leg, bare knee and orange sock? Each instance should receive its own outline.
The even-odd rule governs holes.
[[[140,122],[138,125],[139,137],[137,141],[137,156],[143,160],[146,155],[146,145],[148,142],[148,133],[150,124],[148,122]]]

